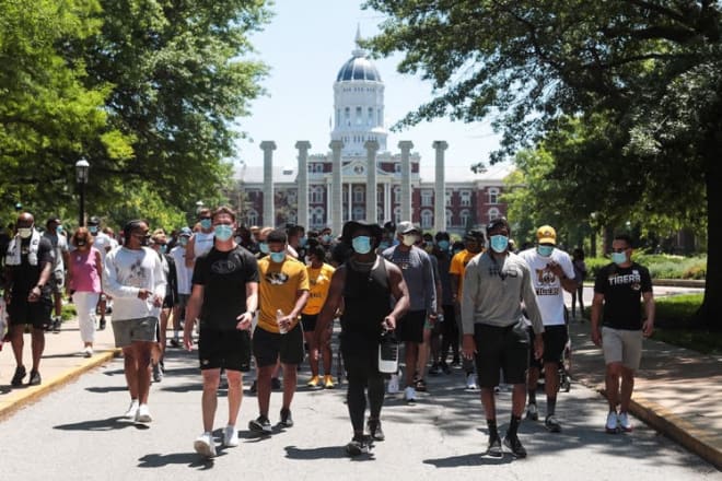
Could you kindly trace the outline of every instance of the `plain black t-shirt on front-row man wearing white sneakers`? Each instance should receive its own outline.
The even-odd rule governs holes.
[[[193,283],[203,289],[200,327],[234,330],[236,317],[247,310],[246,283],[258,282],[258,263],[248,250],[210,251],[196,259]]]

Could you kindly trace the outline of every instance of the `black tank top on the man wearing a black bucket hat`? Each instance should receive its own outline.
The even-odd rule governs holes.
[[[353,269],[346,262],[343,285],[343,314],[341,315],[341,350],[361,353],[379,349],[381,322],[392,312],[392,292],[388,271],[383,258],[369,272]]]

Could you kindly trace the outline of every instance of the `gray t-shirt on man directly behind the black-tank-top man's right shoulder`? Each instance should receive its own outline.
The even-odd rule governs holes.
[[[403,251],[398,246],[394,246],[384,250],[382,256],[401,270],[411,301],[409,310],[435,313],[436,288],[433,283],[429,255],[416,246],[408,251]]]

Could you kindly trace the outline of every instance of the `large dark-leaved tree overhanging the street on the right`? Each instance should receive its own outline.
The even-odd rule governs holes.
[[[700,314],[722,329],[714,320],[722,310],[719,1],[368,0],[366,5],[388,17],[369,40],[372,50],[404,52],[398,70],[420,73],[434,86],[434,98],[400,126],[443,115],[496,116],[504,134],[493,159],[499,160],[556,132],[562,116],[608,116],[622,133],[615,139],[628,138],[626,155],[605,165],[616,169],[618,189],[625,189],[620,173],[630,159],[649,173],[640,188],[632,186],[634,206],[669,211],[664,199],[704,192],[709,254]]]

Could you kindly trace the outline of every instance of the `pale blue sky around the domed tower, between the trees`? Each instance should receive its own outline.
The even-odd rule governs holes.
[[[384,20],[375,11],[361,10],[357,0],[277,0],[276,16],[252,37],[257,57],[270,67],[263,82],[267,96],[255,101],[252,116],[238,119],[248,139],[238,142],[238,159],[248,165],[263,163],[258,146],[273,140],[275,164],[295,165],[298,140],[308,140],[311,153],[328,152],[329,119],[334,107],[333,84],[340,67],[351,58],[357,25],[361,35],[377,32]],[[431,84],[396,72],[400,56],[374,60],[385,84],[385,127],[431,98]],[[446,175],[463,178],[469,166],[488,161],[498,146],[489,121],[476,124],[436,119],[399,132],[391,132],[389,151],[398,152],[400,140],[414,142],[421,154],[422,177],[433,171],[434,140],[445,140]]]

